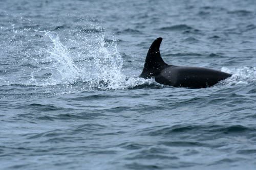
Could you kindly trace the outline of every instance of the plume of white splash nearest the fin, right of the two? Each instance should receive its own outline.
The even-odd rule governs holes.
[[[106,89],[133,88],[142,84],[152,84],[153,80],[145,80],[125,75],[122,71],[123,59],[118,52],[116,39],[106,43],[104,34],[94,37],[97,43],[87,45],[87,54],[83,58],[90,58],[83,67],[82,80],[91,87]],[[85,67],[84,67],[85,66]]]

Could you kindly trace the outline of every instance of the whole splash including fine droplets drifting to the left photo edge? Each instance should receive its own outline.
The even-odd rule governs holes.
[[[62,37],[53,31],[16,29],[12,25],[13,51],[16,44],[23,49],[22,55],[17,54],[22,56],[18,65],[22,69],[3,85],[47,86],[54,93],[158,86],[153,79],[145,80],[129,75],[127,70],[124,72],[115,37],[106,40],[104,29],[97,25],[88,28],[89,31],[69,30]],[[29,41],[23,41],[24,38]]]

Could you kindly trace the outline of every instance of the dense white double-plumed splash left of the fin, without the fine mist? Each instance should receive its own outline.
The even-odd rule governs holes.
[[[89,37],[84,41],[82,47],[77,47],[79,52],[71,55],[68,48],[60,42],[56,32],[34,31],[44,33],[50,38],[53,46],[47,50],[40,50],[42,53],[40,54],[42,56],[40,63],[47,63],[47,66],[40,66],[39,69],[32,72],[30,84],[45,86],[66,83],[77,85],[82,82],[88,89],[108,90],[155,83],[153,80],[123,74],[123,59],[118,52],[114,37],[111,42],[105,42],[104,34]],[[93,39],[93,42],[90,39]],[[74,45],[77,44],[74,43]],[[41,80],[37,82],[36,77],[46,78],[44,82]]]

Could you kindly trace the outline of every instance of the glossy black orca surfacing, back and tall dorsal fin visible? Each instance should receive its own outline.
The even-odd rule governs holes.
[[[174,87],[206,88],[225,80],[232,75],[202,67],[176,66],[166,64],[159,51],[162,38],[157,38],[147,52],[143,71],[139,77],[151,79]]]

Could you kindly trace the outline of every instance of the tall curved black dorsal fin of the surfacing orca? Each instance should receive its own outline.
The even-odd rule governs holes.
[[[152,76],[157,76],[163,68],[168,66],[160,55],[159,47],[161,42],[162,38],[159,37],[151,44],[150,49],[147,52],[144,68],[140,77],[150,79]]]

